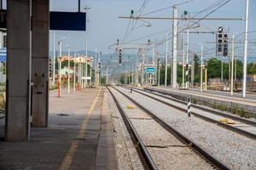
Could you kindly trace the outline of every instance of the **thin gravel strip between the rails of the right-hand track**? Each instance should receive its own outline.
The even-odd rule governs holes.
[[[147,92],[143,92],[143,91],[139,91],[143,94],[148,94],[156,99],[161,99],[167,103],[170,103],[172,105],[177,105],[178,107],[181,107],[181,108],[184,108],[184,109],[187,109],[187,105],[183,105],[181,103],[178,103],[178,102],[175,102],[175,101],[172,101],[171,99],[166,99],[166,98],[163,98],[163,97],[160,97],[160,96],[157,96],[155,94],[149,94]],[[194,111],[195,113],[197,114],[200,114],[202,116],[207,116],[215,121],[219,121],[220,119],[224,119],[225,117],[224,116],[218,116],[218,115],[214,115],[214,114],[211,114],[211,113],[208,113],[207,111],[201,111],[199,109],[196,109],[196,108],[191,108],[191,111]],[[237,127],[237,128],[240,128],[244,131],[247,131],[247,132],[250,132],[250,133],[254,133],[256,134],[256,127],[252,126],[252,125],[248,125],[246,123],[243,123],[243,122],[238,122],[238,121],[235,121],[235,120],[232,120],[230,118],[228,118],[229,121],[232,121],[232,122],[236,122],[236,124],[230,124],[230,126],[233,126],[233,127]]]

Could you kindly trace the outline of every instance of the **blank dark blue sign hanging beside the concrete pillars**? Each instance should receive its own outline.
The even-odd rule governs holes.
[[[49,29],[63,31],[85,31],[86,13],[49,12]]]

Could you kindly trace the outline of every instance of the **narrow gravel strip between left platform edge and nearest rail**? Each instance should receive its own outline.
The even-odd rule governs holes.
[[[122,122],[122,117],[120,116],[113,98],[109,93],[108,105],[112,115],[114,143],[119,169],[130,170],[143,168],[143,165],[139,161],[137,150],[134,148],[129,133],[125,128],[125,124]]]

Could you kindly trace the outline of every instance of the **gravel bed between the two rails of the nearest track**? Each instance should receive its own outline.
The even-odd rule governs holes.
[[[122,94],[113,90],[125,113],[131,119],[137,133],[154,159],[159,169],[213,169],[201,156],[189,146],[180,142],[166,129],[155,122],[150,116],[131,104]],[[127,106],[133,109],[127,109]]]

